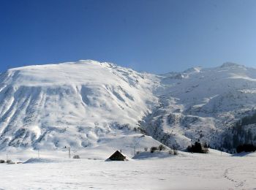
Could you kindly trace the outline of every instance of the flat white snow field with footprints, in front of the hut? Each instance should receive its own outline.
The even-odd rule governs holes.
[[[0,164],[0,181],[1,189],[253,189],[255,156],[211,151],[131,161],[42,158]]]

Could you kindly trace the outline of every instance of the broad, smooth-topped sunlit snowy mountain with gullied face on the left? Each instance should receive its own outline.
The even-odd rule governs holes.
[[[10,69],[0,76],[0,148],[122,148],[114,142],[140,137],[134,131],[157,102],[157,83],[154,75],[97,61]]]

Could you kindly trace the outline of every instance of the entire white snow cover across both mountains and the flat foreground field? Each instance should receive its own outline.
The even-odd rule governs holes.
[[[255,111],[255,79],[233,63],[166,75],[97,61],[10,69],[0,75],[0,159],[26,164],[0,164],[0,189],[255,189],[255,153],[143,152],[159,141],[219,145]],[[129,161],[105,161],[116,150]]]

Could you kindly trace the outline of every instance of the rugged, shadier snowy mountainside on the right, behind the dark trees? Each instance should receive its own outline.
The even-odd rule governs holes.
[[[256,69],[225,63],[211,69],[167,73],[159,80],[154,94],[160,105],[143,126],[166,145],[184,149],[200,139],[219,148],[233,123],[255,113]],[[232,146],[232,137],[229,140]]]

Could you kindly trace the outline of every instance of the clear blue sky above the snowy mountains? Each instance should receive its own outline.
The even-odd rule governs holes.
[[[79,59],[154,73],[256,67],[256,1],[0,0],[0,72]]]

